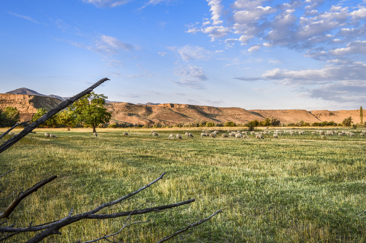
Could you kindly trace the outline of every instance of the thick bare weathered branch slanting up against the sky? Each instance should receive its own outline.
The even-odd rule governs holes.
[[[99,80],[97,83],[93,84],[92,86],[90,86],[86,90],[80,92],[79,94],[72,96],[71,98],[61,102],[58,106],[54,107],[53,109],[48,111],[46,114],[42,115],[42,117],[40,117],[37,121],[31,123],[29,126],[26,126],[20,133],[16,134],[14,137],[10,138],[5,143],[1,144],[0,153],[4,152],[8,148],[10,148],[13,144],[18,142],[20,139],[27,136],[27,134],[31,133],[35,128],[37,128],[39,125],[41,125],[42,123],[47,121],[47,119],[51,118],[57,112],[66,108],[67,106],[71,105],[76,100],[80,99],[82,96],[89,94],[91,91],[94,90],[94,88],[100,86],[102,83],[104,83],[107,80],[110,80],[110,79],[105,77],[104,79]]]

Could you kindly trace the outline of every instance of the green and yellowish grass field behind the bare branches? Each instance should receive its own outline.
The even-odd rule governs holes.
[[[366,138],[360,137],[361,129],[355,138],[321,139],[306,132],[278,140],[201,138],[202,129],[190,131],[194,138],[186,138],[185,130],[156,130],[160,137],[143,129],[130,130],[130,137],[123,136],[127,129],[99,130],[94,138],[90,129],[38,129],[0,154],[0,174],[16,170],[0,178],[2,197],[58,176],[22,202],[11,223],[26,227],[30,221],[61,219],[72,206],[75,213],[94,209],[166,171],[162,181],[103,213],[132,210],[146,201],[146,207],[196,201],[133,216],[133,221],[151,223],[132,225],[114,240],[157,242],[222,209],[169,242],[366,242]],[[58,137],[44,137],[45,132]],[[170,133],[182,134],[183,140],[169,140]],[[1,209],[10,200],[1,200]],[[79,221],[44,242],[91,240],[118,231],[123,222]]]

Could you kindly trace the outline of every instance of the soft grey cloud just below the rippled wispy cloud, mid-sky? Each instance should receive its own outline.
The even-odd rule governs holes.
[[[173,81],[176,85],[197,90],[205,89],[203,81],[208,80],[202,68],[194,65],[181,65],[174,69],[174,75],[180,78],[180,81]]]

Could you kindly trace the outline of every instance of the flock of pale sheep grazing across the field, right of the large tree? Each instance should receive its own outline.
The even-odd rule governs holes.
[[[234,132],[234,131],[231,131],[231,130],[228,130],[227,131],[228,134],[226,133],[223,133],[221,134],[221,137],[222,138],[225,138],[225,137],[235,137],[235,138],[249,138],[249,135],[255,135],[255,138],[257,139],[264,139],[264,136],[266,135],[269,135],[271,133],[273,133],[273,138],[275,139],[278,139],[279,136],[283,136],[285,135],[285,133],[288,133],[290,134],[290,136],[293,136],[295,133],[298,133],[300,136],[305,134],[306,131],[298,131],[298,130],[283,130],[283,131],[279,131],[279,130],[276,130],[276,131],[267,131],[267,130],[264,130],[264,131],[261,131],[261,132],[254,132],[254,131],[243,131],[243,132],[240,132],[239,130]],[[125,132],[127,133],[127,132]],[[153,137],[160,137],[160,135],[155,132],[155,131],[151,131]],[[361,137],[365,137],[365,133],[366,133],[366,130],[362,130],[360,135]],[[209,130],[202,130],[202,133],[201,133],[201,137],[212,137],[212,138],[216,138],[216,136],[220,134],[220,132],[218,130],[215,130],[213,132],[209,131]],[[328,138],[328,136],[334,136],[334,135],[338,135],[338,136],[344,136],[345,134],[349,137],[355,137],[355,133],[353,132],[349,132],[349,131],[336,131],[336,130],[327,130],[326,132],[322,131],[322,130],[316,130],[316,131],[312,131],[311,132],[311,135],[313,136],[316,136],[317,134],[320,135],[321,138]],[[126,135],[126,134],[125,134]],[[127,134],[128,136],[128,134]],[[186,137],[194,137],[192,133],[190,132],[186,132],[185,133],[185,136]],[[169,134],[169,139],[174,139],[174,134],[171,133]],[[177,139],[182,139],[182,135],[181,134],[176,134],[176,138]]]

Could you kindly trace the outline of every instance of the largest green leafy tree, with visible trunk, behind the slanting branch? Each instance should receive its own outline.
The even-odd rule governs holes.
[[[107,98],[103,94],[98,95],[90,92],[90,94],[76,100],[74,102],[75,114],[77,115],[76,121],[90,125],[93,128],[93,133],[95,133],[95,128],[99,124],[107,123],[111,119],[112,114],[104,108],[105,99]]]

